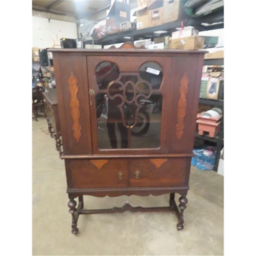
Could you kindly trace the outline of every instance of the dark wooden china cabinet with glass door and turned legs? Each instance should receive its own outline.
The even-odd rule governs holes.
[[[174,211],[183,229],[205,52],[127,43],[50,51],[72,233],[80,214],[125,210]],[[83,195],[150,194],[169,194],[169,206],[84,209]]]

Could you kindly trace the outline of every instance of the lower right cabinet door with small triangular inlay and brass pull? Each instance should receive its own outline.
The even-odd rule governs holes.
[[[133,159],[130,164],[130,186],[182,186],[187,163],[188,160],[181,157]]]

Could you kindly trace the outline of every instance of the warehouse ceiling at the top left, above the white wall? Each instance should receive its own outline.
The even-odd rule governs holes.
[[[87,18],[102,9],[109,9],[111,0],[32,0],[32,9],[76,18]]]

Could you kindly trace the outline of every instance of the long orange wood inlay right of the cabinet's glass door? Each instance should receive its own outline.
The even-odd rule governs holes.
[[[186,73],[180,79],[180,99],[178,101],[177,108],[177,124],[176,124],[176,137],[180,140],[183,136],[184,131],[184,118],[186,116],[186,93],[189,91],[188,87],[189,79],[186,76]]]

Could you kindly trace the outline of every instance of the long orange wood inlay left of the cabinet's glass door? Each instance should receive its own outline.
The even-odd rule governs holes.
[[[71,100],[70,100],[70,109],[71,109],[71,116],[73,119],[73,125],[72,125],[72,130],[73,130],[73,136],[76,139],[77,142],[79,142],[80,137],[81,137],[81,124],[80,124],[80,105],[79,105],[79,100],[77,98],[77,93],[78,93],[78,86],[77,86],[77,79],[74,76],[73,72],[71,72],[70,77],[68,79],[69,83],[69,91],[71,94]]]

